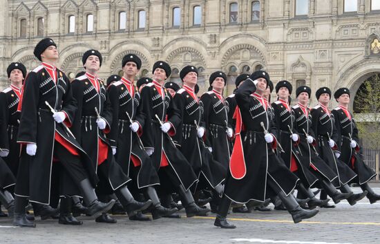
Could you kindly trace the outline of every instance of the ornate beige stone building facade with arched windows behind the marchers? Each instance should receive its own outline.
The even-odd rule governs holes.
[[[263,69],[294,91],[306,84],[356,93],[380,72],[379,33],[379,0],[2,0],[0,88],[10,62],[37,66],[35,44],[52,37],[70,78],[95,48],[105,79],[135,53],[139,76],[150,76],[158,59],[171,64],[175,82],[183,66],[199,67],[201,91],[213,71],[227,73],[230,94],[238,74]]]

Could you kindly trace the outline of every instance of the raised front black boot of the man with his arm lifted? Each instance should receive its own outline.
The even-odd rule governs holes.
[[[302,209],[292,194],[286,196],[283,191],[279,191],[278,197],[281,198],[283,204],[287,208],[287,211],[292,214],[294,223],[300,223],[303,219],[312,218],[319,212],[317,209]]]

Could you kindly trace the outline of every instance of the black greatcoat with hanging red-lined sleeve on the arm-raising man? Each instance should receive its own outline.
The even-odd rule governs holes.
[[[249,200],[263,202],[267,193],[267,176],[273,178],[285,194],[290,194],[298,181],[265,142],[260,122],[274,135],[276,127],[263,103],[251,95],[254,91],[256,86],[249,79],[235,95],[240,110],[236,109],[236,141],[227,171],[225,195],[236,203],[247,203]],[[275,144],[276,141],[272,146]]]

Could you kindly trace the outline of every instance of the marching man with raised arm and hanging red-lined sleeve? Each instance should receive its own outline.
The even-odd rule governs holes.
[[[249,200],[264,202],[268,189],[274,191],[287,207],[294,223],[312,218],[318,210],[302,209],[291,194],[298,179],[280,163],[268,162],[276,149],[274,124],[267,114],[268,104],[263,98],[267,89],[269,75],[265,71],[256,71],[246,79],[236,91],[236,141],[231,156],[229,172],[225,184],[219,213],[214,225],[222,228],[235,228],[227,222],[226,216],[231,200],[247,203]],[[254,93],[256,91],[256,93]],[[268,131],[272,132],[269,133]],[[273,149],[273,150],[272,150]],[[271,169],[269,169],[271,168]],[[279,177],[278,177],[279,176]],[[276,178],[289,179],[289,185],[282,187]],[[292,182],[292,184],[290,184]]]

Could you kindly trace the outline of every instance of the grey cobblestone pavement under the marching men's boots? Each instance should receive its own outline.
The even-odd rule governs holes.
[[[374,189],[380,192],[379,187]],[[180,214],[185,216],[183,210]],[[380,243],[380,203],[370,205],[367,199],[353,207],[343,201],[335,209],[320,209],[314,218],[296,225],[287,212],[274,210],[230,214],[237,229],[214,227],[214,214],[149,222],[115,218],[117,224],[102,224],[81,217],[84,225],[79,227],[37,219],[37,228],[12,227],[10,220],[1,218],[0,243]]]

